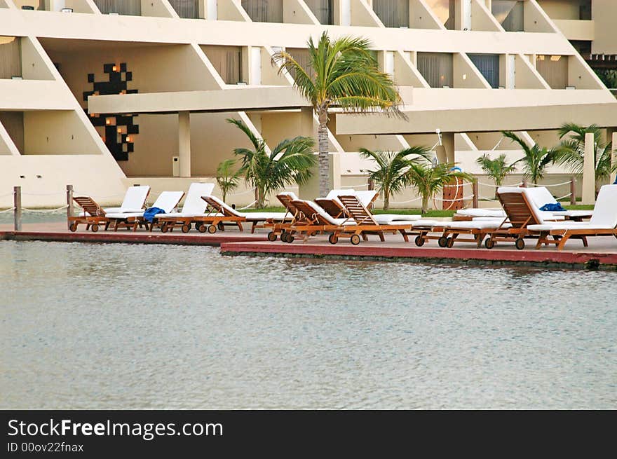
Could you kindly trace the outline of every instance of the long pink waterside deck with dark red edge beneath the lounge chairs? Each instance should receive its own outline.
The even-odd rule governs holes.
[[[71,233],[65,223],[24,224],[21,232],[14,233],[12,225],[0,225],[0,239],[14,240],[48,240],[62,242],[124,242],[176,245],[216,245],[224,254],[274,254],[294,256],[353,256],[372,259],[427,259],[453,262],[477,263],[527,263],[538,265],[563,266],[603,266],[617,268],[617,239],[612,237],[589,238],[589,247],[583,247],[580,240],[571,240],[563,251],[554,247],[534,249],[534,242],[529,241],[524,250],[515,249],[511,243],[500,243],[494,249],[477,249],[470,242],[456,242],[452,248],[442,249],[437,242],[431,240],[423,247],[416,247],[413,238],[404,242],[400,235],[386,235],[385,242],[379,242],[377,236],[369,237],[369,241],[360,242],[354,246],[346,238],[341,238],[336,245],[327,242],[325,236],[311,238],[307,242],[295,240],[291,244],[285,242],[269,242],[266,231],[258,230],[240,232],[236,228],[217,231],[215,234],[198,233],[191,230],[182,233],[179,228],[171,233],[161,233],[126,229],[114,231],[98,231],[92,233],[80,226],[79,231]]]

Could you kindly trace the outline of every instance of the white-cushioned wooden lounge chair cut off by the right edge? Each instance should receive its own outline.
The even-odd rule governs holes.
[[[572,238],[583,240],[585,247],[589,236],[617,238],[617,185],[602,186],[590,221],[533,224],[528,230],[538,235],[536,249],[543,244],[555,244],[558,250],[563,250],[566,242]],[[549,236],[552,239],[548,239]]]

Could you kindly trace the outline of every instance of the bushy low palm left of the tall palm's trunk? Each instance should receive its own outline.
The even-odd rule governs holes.
[[[313,155],[315,141],[311,137],[285,139],[268,154],[266,142],[256,137],[243,121],[231,118],[227,121],[244,132],[254,148],[238,148],[233,153],[242,158],[238,172],[257,191],[255,207],[265,206],[268,193],[293,183],[304,184],[311,178],[311,167],[316,165]]]

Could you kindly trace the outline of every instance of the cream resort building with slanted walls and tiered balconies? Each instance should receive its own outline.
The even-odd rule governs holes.
[[[366,185],[360,147],[442,144],[439,160],[479,174],[482,153],[521,156],[501,130],[554,146],[562,123],[595,123],[610,141],[617,100],[590,64],[617,55],[614,3],[0,0],[0,207],[12,205],[13,186],[26,206],[55,206],[67,184],[106,203],[132,184],[213,182],[217,165],[249,146],[226,118],[270,147],[316,137],[311,107],[271,56],[285,49],[306,62],[306,41],[323,31],[371,41],[406,115],[334,111],[332,188]],[[547,183],[569,176],[553,168]],[[299,194],[317,190],[315,179]],[[253,199],[240,187],[229,200]]]

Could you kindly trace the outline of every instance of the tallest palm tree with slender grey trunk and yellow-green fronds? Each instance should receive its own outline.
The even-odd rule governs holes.
[[[398,110],[401,99],[391,76],[379,71],[366,39],[348,36],[331,40],[323,32],[317,46],[312,38],[307,45],[306,68],[285,51],[273,55],[272,64],[280,65],[279,74],[288,71],[294,76],[294,88],[311,102],[318,116],[319,193],[326,196],[330,108],[358,113],[379,110],[402,116]]]

